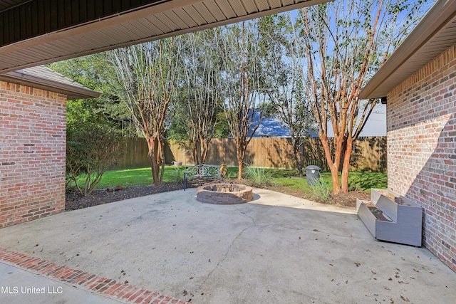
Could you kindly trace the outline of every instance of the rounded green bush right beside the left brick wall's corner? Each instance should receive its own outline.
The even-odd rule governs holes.
[[[88,196],[103,174],[123,154],[119,132],[106,124],[73,122],[66,133],[66,187],[72,185]],[[81,177],[83,182],[81,181]]]

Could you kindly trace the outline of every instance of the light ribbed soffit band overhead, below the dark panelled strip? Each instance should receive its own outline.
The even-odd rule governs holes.
[[[0,73],[85,56],[328,0],[171,0],[0,48]]]

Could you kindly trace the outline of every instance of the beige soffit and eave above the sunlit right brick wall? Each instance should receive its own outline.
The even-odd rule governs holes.
[[[456,43],[456,1],[440,0],[361,90],[383,98],[397,85]]]

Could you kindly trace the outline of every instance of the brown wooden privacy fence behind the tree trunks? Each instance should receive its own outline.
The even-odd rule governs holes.
[[[118,169],[150,166],[147,144],[144,138],[128,138],[123,159]],[[300,146],[302,165],[316,164],[328,170],[323,147],[318,138],[306,138]],[[190,146],[167,142],[167,164],[181,162],[184,166],[195,165]],[[253,138],[247,147],[247,164],[254,167],[295,168],[293,147],[289,138]],[[209,144],[206,164],[237,166],[236,145],[230,138],[214,138]],[[386,171],[386,137],[360,137],[356,140],[351,157],[353,171]]]

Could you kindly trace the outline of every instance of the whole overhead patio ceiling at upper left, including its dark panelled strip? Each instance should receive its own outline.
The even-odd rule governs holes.
[[[0,0],[0,73],[328,0]]]

